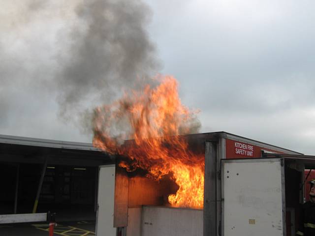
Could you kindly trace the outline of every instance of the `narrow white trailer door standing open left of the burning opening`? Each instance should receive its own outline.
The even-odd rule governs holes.
[[[116,236],[114,228],[115,165],[99,167],[96,236]]]

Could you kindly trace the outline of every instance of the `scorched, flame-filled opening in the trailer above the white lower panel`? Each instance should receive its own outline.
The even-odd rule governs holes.
[[[185,150],[181,149],[182,147],[174,146],[172,143],[163,142],[161,145],[166,150],[165,153],[170,153],[166,157],[159,157],[157,152],[157,156],[154,159],[148,158],[145,150],[141,159],[139,158],[140,160],[134,156],[132,158],[123,155],[116,157],[116,183],[119,182],[121,176],[128,179],[129,187],[126,193],[128,194],[129,207],[153,205],[203,208],[204,141],[193,139],[189,136],[182,136],[181,142],[183,142]],[[141,148],[134,141],[127,141],[126,147],[129,150]],[[178,155],[172,153],[174,150],[178,151]],[[186,158],[181,159],[183,151]],[[152,170],[151,167],[155,165],[164,170]],[[176,169],[174,167],[176,165],[184,169]],[[198,173],[195,172],[196,169]],[[196,178],[195,174],[199,176]],[[181,178],[184,178],[184,180]],[[180,190],[184,193],[179,194],[186,195],[181,196],[181,198],[186,199],[181,200],[181,205],[177,205],[171,202],[170,196],[176,196]],[[139,196],[139,193],[141,193],[141,198],[135,198],[134,196]],[[197,194],[200,195],[199,205],[190,204],[191,199],[198,197]]]

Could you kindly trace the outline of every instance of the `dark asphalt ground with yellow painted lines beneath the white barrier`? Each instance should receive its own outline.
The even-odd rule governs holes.
[[[0,225],[0,236],[48,236],[47,223]],[[95,236],[95,221],[57,223],[54,236]]]

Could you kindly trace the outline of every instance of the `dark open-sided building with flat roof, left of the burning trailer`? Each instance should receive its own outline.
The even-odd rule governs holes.
[[[40,187],[36,213],[95,220],[98,166],[111,160],[91,144],[1,135],[0,214],[32,213]]]

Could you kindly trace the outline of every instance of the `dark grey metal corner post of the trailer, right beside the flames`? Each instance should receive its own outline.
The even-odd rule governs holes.
[[[203,203],[203,236],[217,236],[216,143],[206,141]]]

